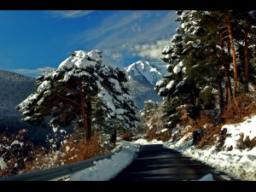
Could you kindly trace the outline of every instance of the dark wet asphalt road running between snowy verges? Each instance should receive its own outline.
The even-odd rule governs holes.
[[[214,181],[238,179],[192,160],[161,144],[142,145],[130,166],[110,181],[191,181],[211,177]]]

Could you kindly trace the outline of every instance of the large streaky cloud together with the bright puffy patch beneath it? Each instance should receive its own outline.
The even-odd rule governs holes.
[[[113,61],[126,62],[133,56],[160,60],[162,49],[169,45],[169,40],[160,39],[172,38],[178,26],[176,17],[170,10],[115,11],[99,26],[81,32],[73,40],[85,46],[91,44],[90,49],[119,52],[122,58],[112,55]]]

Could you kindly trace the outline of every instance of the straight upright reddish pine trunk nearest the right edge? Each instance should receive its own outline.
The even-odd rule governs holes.
[[[248,83],[249,83],[248,16],[246,19],[246,27],[244,30],[244,63],[245,63],[244,91],[247,93],[248,92]]]

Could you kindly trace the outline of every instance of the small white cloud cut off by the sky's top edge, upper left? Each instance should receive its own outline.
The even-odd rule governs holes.
[[[64,18],[64,19],[75,19],[83,17],[85,15],[90,15],[94,10],[55,10],[55,11],[46,11],[49,15],[55,18]]]

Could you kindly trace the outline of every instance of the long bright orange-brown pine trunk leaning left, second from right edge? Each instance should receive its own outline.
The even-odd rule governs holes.
[[[237,91],[236,49],[235,49],[235,44],[234,44],[233,35],[232,35],[229,10],[227,11],[227,24],[228,24],[229,34],[230,34],[230,45],[231,45],[231,49],[232,49],[232,57],[233,57],[233,65],[234,65],[234,97],[236,97],[237,96],[237,93],[236,93],[236,91]]]

